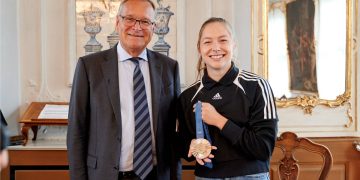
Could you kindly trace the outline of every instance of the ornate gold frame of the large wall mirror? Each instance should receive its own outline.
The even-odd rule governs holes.
[[[255,47],[254,49],[257,50],[253,52],[257,52],[258,55],[258,62],[254,61],[254,57],[252,59],[253,62],[253,70],[255,67],[258,69],[255,70],[258,73],[261,73],[266,79],[269,79],[269,24],[268,24],[268,17],[269,17],[269,10],[273,8],[273,3],[275,1],[280,2],[280,6],[282,8],[286,8],[286,4],[296,1],[296,0],[261,0],[257,1],[256,3],[253,3],[254,8],[253,10],[253,20],[256,18],[255,12],[259,11],[261,12],[261,16],[259,16],[257,19],[260,19],[260,23],[255,24],[253,21],[253,33],[254,31],[258,31],[260,35],[258,35],[258,41],[255,42],[252,46]],[[300,0],[297,0],[300,1]],[[313,0],[315,3],[318,3],[320,0]],[[352,68],[352,62],[356,61],[356,56],[353,54],[353,52],[356,52],[354,50],[355,44],[356,44],[356,22],[357,22],[357,5],[358,0],[346,0],[346,43],[345,43],[345,58],[344,58],[344,66],[345,66],[345,72],[344,72],[344,82],[345,87],[343,93],[338,94],[335,98],[332,99],[324,99],[320,98],[318,95],[309,95],[309,94],[300,94],[294,97],[276,97],[276,104],[280,108],[285,108],[289,106],[300,106],[304,110],[305,113],[311,114],[312,110],[317,105],[325,105],[328,107],[338,107],[340,105],[344,105],[344,103],[348,102],[351,97],[351,68]],[[318,4],[317,4],[318,5]],[[280,7],[281,8],[281,7]],[[256,26],[259,25],[260,28],[255,29]],[[255,27],[255,28],[254,28]],[[270,37],[271,38],[271,37]],[[285,60],[286,61],[286,60]],[[336,72],[332,72],[336,73]],[[270,84],[273,86],[272,82],[270,81]]]

